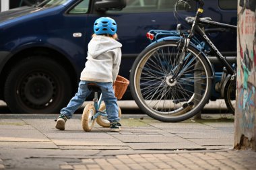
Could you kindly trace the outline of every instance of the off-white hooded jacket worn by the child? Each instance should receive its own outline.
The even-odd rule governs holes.
[[[94,36],[88,44],[86,67],[82,81],[114,82],[121,63],[120,42],[107,36]]]

